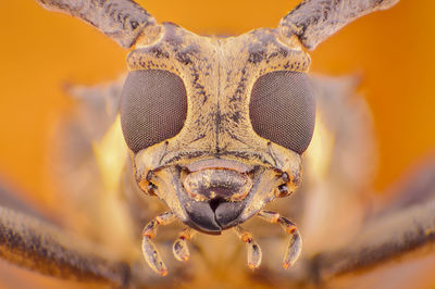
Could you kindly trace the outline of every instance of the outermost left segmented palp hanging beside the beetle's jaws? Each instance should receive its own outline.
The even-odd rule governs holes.
[[[145,260],[154,272],[162,276],[167,274],[166,266],[164,265],[151,239],[154,238],[159,225],[169,225],[175,219],[176,216],[172,212],[165,212],[148,223],[142,231],[142,253]]]

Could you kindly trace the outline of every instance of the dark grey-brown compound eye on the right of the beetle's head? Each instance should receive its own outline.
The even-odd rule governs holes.
[[[253,85],[249,104],[252,128],[262,138],[299,154],[310,144],[315,101],[304,73],[272,72]]]

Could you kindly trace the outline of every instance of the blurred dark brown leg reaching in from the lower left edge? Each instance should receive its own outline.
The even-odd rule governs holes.
[[[0,184],[0,194],[4,191]],[[63,279],[130,287],[128,263],[104,257],[100,247],[32,215],[0,206],[0,257]],[[146,278],[145,278],[146,279]],[[146,281],[148,281],[146,279]]]

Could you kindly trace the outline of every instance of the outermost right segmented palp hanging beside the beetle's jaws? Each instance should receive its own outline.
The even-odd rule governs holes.
[[[302,251],[302,238],[300,237],[299,230],[295,224],[293,224],[286,217],[281,216],[276,212],[271,211],[260,211],[259,217],[265,219],[269,223],[281,224],[284,231],[290,235],[290,240],[288,241],[287,250],[284,255],[283,267],[287,269],[293,266],[298,260],[300,252]]]

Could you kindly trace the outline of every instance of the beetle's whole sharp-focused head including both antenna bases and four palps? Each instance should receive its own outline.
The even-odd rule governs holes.
[[[301,251],[298,229],[263,209],[298,187],[301,155],[313,134],[304,49],[397,1],[304,1],[276,29],[228,38],[158,25],[133,1],[40,2],[90,22],[123,47],[134,46],[121,97],[122,130],[138,186],[169,208],[144,229],[148,264],[166,274],[151,239],[159,225],[178,219],[188,226],[174,243],[178,260],[189,257],[186,241],[194,231],[234,228],[256,268],[261,249],[239,225],[257,215],[290,236],[283,266],[291,266]]]

